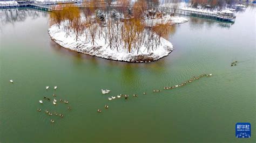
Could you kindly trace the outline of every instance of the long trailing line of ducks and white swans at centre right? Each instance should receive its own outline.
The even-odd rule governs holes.
[[[178,87],[183,87],[185,86],[186,84],[188,83],[191,83],[195,80],[199,80],[201,77],[210,77],[212,76],[212,74],[201,74],[197,77],[193,76],[192,78],[190,78],[189,80],[185,81],[185,82],[182,82],[180,84],[177,84],[177,85],[173,85],[171,87],[164,87],[163,89],[174,89],[174,88],[178,88]],[[161,90],[153,90],[153,92],[160,92]],[[102,89],[102,94],[109,94],[111,91],[110,90],[103,90]],[[147,93],[146,92],[143,92],[143,95],[146,95]],[[137,94],[133,94],[133,97],[137,97],[138,95]],[[121,97],[124,97],[125,99],[128,99],[129,95],[126,95],[126,94],[119,94],[117,96],[111,96],[111,97],[108,97],[109,101],[112,101],[113,99],[116,99],[116,98],[121,98]],[[105,108],[109,108],[109,105],[105,105]],[[101,109],[97,109],[98,112],[102,112]]]

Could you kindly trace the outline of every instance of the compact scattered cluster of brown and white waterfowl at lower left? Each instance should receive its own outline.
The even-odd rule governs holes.
[[[45,87],[46,90],[48,90],[49,88],[50,88],[49,86],[46,86],[46,87]],[[57,86],[53,87],[53,89],[56,90],[56,89],[57,89]],[[56,99],[57,95],[56,95],[56,94],[53,94],[52,96],[53,96],[52,104],[56,106],[56,105],[57,105],[57,102],[58,102],[57,99]],[[50,99],[49,97],[45,97],[45,96],[44,96],[43,99],[44,99],[46,102],[51,102],[51,99]],[[42,99],[42,100],[39,100],[39,103],[43,104],[43,103],[44,103],[44,102],[43,102],[43,99]],[[63,103],[63,104],[68,104],[69,101],[66,100],[66,99],[64,99],[64,100],[63,100],[63,99],[59,99],[59,103],[60,103],[60,104],[62,104],[62,103]],[[69,105],[68,105],[68,110],[71,110],[71,108],[70,108]],[[40,108],[38,108],[37,111],[38,111],[38,112],[41,112],[42,110],[41,110]],[[61,118],[64,117],[63,113],[58,113],[58,112],[56,112],[56,111],[52,111],[52,112],[51,112],[51,111],[49,111],[49,110],[47,110],[47,109],[45,110],[45,113],[46,113],[47,115],[49,115],[49,116],[55,115],[55,116],[59,116],[59,117],[61,117]],[[50,119],[50,123],[55,123],[55,120]]]

